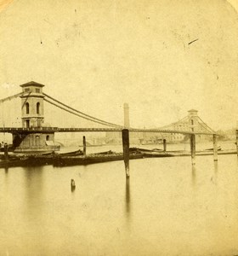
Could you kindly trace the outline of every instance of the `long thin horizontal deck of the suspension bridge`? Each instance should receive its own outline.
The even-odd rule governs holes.
[[[120,132],[123,128],[59,128],[59,127],[0,127],[0,133],[47,133],[47,132]],[[196,135],[212,135],[211,132],[193,132],[193,131],[175,131],[163,129],[129,129],[130,132],[161,132],[161,133],[180,133],[180,134],[196,134]]]

